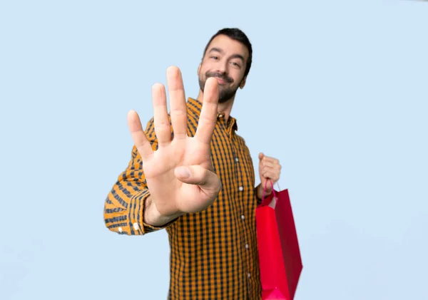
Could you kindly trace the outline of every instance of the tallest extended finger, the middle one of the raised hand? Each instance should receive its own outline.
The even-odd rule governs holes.
[[[166,78],[170,95],[170,115],[174,138],[182,139],[187,137],[187,106],[180,69],[170,66],[166,71]]]

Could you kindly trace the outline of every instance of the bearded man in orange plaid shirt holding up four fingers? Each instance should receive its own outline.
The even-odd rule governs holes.
[[[144,132],[137,113],[128,113],[135,145],[108,194],[104,218],[120,234],[166,229],[168,299],[260,299],[255,208],[281,167],[260,153],[255,187],[250,151],[230,116],[252,54],[245,33],[222,29],[198,67],[198,98],[186,103],[180,71],[170,67],[170,115],[161,84],[153,86],[154,114]]]

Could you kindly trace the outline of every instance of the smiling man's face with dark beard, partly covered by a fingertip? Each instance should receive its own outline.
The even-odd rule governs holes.
[[[200,90],[204,90],[205,81],[217,78],[219,103],[230,100],[238,88],[243,88],[248,49],[242,43],[228,36],[216,36],[208,46],[202,63],[198,68]]]

